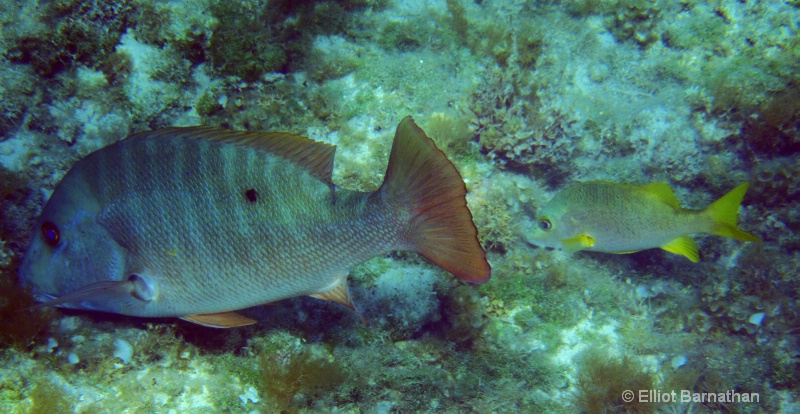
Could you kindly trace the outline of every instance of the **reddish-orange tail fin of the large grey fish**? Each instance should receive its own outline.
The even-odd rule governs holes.
[[[412,250],[460,279],[489,280],[491,268],[467,208],[461,174],[410,116],[397,127],[378,193],[410,211],[403,236]]]

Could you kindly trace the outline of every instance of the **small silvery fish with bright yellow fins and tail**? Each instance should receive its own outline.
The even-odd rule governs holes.
[[[737,225],[739,205],[749,185],[739,185],[705,210],[691,210],[681,207],[666,183],[576,184],[542,209],[528,242],[567,251],[618,254],[661,248],[698,262],[697,244],[689,234],[761,241]]]

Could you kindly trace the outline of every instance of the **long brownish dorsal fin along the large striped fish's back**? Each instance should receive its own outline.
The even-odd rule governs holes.
[[[136,137],[202,139],[267,151],[310,172],[333,186],[331,174],[336,146],[287,132],[244,132],[213,127],[171,127],[142,132]]]

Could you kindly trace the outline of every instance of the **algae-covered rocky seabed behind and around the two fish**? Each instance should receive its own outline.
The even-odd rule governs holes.
[[[0,19],[0,412],[800,411],[796,1],[20,1]],[[350,275],[366,326],[308,297],[230,330],[20,310],[36,217],[88,153],[165,126],[289,131],[371,190],[406,115],[465,180],[489,282],[373,259]],[[696,236],[691,263],[526,241],[593,180],[666,182],[695,209],[750,182],[739,226],[764,242]]]

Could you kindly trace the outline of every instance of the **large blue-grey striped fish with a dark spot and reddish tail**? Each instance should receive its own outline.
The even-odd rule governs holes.
[[[56,187],[20,275],[45,305],[214,327],[311,295],[355,309],[353,266],[415,251],[481,283],[490,267],[456,168],[410,117],[374,193],[337,189],[334,146],[167,128],[89,154]]]

